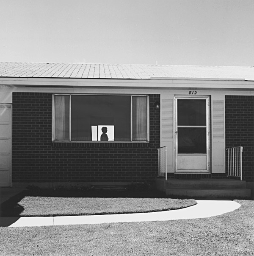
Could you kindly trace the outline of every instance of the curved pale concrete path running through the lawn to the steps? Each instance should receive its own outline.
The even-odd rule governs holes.
[[[99,224],[113,222],[143,222],[143,221],[165,221],[171,219],[196,219],[221,215],[238,209],[241,205],[229,200],[196,200],[197,204],[178,210],[157,211],[135,214],[104,214],[86,216],[59,216],[59,217],[3,217],[2,223],[8,227],[33,227],[49,225],[78,225]],[[11,219],[12,218],[12,219]]]

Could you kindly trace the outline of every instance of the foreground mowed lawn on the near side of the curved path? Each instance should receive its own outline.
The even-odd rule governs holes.
[[[216,217],[0,228],[0,255],[254,255],[254,201]]]

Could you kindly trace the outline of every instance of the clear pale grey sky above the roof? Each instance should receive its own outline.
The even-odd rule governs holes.
[[[254,0],[0,0],[0,62],[254,66]]]

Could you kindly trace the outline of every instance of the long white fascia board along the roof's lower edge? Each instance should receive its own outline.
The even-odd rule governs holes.
[[[0,78],[0,86],[8,87],[134,87],[134,88],[204,88],[254,89],[254,81],[235,79],[71,79],[71,78]]]

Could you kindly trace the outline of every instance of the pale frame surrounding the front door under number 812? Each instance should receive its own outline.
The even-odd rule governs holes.
[[[206,138],[207,138],[207,159],[206,159],[206,170],[179,170],[177,171],[178,168],[178,141],[177,141],[177,99],[206,99],[206,127],[207,127],[207,133],[206,133]],[[174,96],[174,155],[175,155],[175,164],[174,164],[174,172],[175,173],[210,173],[210,96],[194,96],[194,95],[175,95]],[[191,155],[191,154],[186,154],[186,155]],[[202,154],[200,154],[202,155]]]

